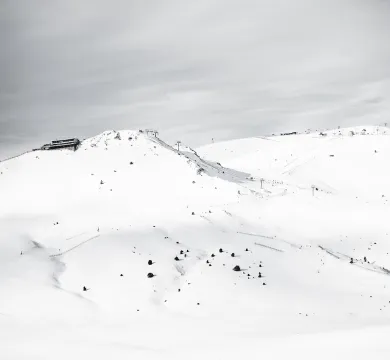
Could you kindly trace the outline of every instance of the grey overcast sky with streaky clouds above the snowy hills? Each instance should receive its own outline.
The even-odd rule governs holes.
[[[0,158],[108,129],[198,146],[389,115],[387,0],[0,0]]]

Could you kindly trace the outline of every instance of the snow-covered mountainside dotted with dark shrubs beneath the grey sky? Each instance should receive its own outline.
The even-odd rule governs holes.
[[[388,359],[389,164],[374,126],[0,162],[0,358]]]

